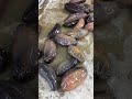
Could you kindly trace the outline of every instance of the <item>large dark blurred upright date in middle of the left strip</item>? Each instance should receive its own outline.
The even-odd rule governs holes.
[[[37,35],[22,24],[16,29],[12,50],[12,76],[19,81],[29,81],[37,75]]]

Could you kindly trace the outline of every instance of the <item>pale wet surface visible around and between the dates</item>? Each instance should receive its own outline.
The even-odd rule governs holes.
[[[62,25],[61,33],[67,33],[72,29],[63,28],[63,22],[68,13],[64,10],[64,3],[69,0],[48,0],[46,6],[42,6],[40,9],[40,22],[42,25],[41,35],[38,38],[40,48],[43,48],[46,35],[52,30],[54,24],[58,22]],[[89,3],[90,0],[87,0]],[[45,8],[45,9],[44,9]],[[84,50],[86,55],[85,67],[88,70],[88,77],[85,82],[77,89],[63,92],[63,91],[51,91],[46,81],[40,76],[38,77],[38,96],[40,99],[92,99],[94,98],[94,36],[89,33],[84,40],[79,41],[78,45]],[[57,45],[57,56],[51,64],[56,68],[62,62],[69,58],[67,48]]]

